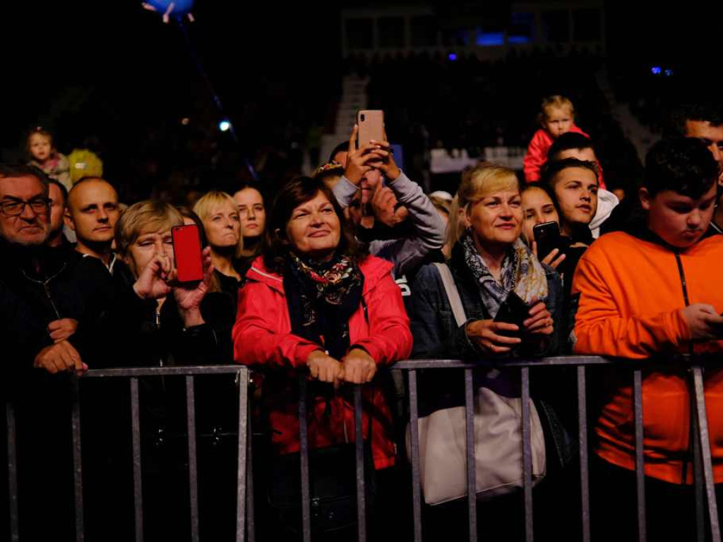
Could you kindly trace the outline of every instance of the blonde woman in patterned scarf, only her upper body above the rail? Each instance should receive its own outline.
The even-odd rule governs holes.
[[[509,356],[521,347],[539,354],[555,348],[560,278],[521,241],[522,226],[520,186],[513,171],[483,164],[465,173],[448,231],[449,267],[469,322],[450,328],[453,322],[442,317],[450,309],[439,272],[434,265],[422,267],[412,296],[415,353]],[[522,327],[495,322],[513,292],[529,306]]]

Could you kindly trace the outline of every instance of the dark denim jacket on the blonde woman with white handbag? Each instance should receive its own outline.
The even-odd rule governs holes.
[[[460,245],[455,246],[452,258],[448,262],[455,285],[464,306],[467,322],[463,326],[457,325],[452,307],[445,292],[442,278],[434,264],[424,265],[411,284],[412,296],[410,313],[411,330],[414,336],[414,358],[441,358],[441,359],[469,359],[481,358],[483,354],[476,349],[466,334],[466,324],[472,320],[491,319],[492,316],[482,302],[479,287],[474,276],[464,262],[463,250]],[[543,265],[547,275],[549,293],[543,301],[552,314],[555,322],[555,333],[552,335],[547,348],[536,353],[537,356],[549,356],[557,353],[558,322],[562,322],[563,293],[560,275],[551,267]],[[513,351],[513,356],[515,352]],[[498,358],[499,366],[504,364],[505,358]],[[425,378],[425,376],[427,378]],[[426,416],[439,408],[450,408],[463,405],[463,381],[455,378],[457,375],[442,375],[436,372],[432,375],[423,375],[420,379],[422,401],[419,405],[420,416]],[[434,377],[434,378],[432,378]],[[534,383],[534,380],[533,380]],[[425,392],[425,389],[428,389]],[[568,431],[560,422],[552,405],[542,400],[548,394],[544,390],[536,393],[532,389],[533,398],[538,408],[545,430],[548,447],[555,446],[555,455],[561,465],[569,462],[574,453],[574,442]],[[554,395],[554,394],[550,394]],[[431,400],[429,397],[433,397]]]

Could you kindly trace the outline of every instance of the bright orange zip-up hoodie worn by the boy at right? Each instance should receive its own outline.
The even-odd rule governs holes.
[[[680,251],[690,304],[723,311],[723,236],[710,236]],[[573,281],[580,293],[575,353],[648,358],[655,353],[688,353],[690,330],[681,314],[684,285],[674,251],[628,233],[599,238],[581,258]],[[696,343],[694,353],[723,351],[723,340]],[[683,481],[688,457],[690,396],[687,371],[643,374],[643,434],[647,476]],[[595,451],[604,460],[635,469],[633,377],[613,377],[594,423]],[[706,410],[714,478],[723,482],[723,370],[706,369]],[[692,467],[685,483],[692,483]]]

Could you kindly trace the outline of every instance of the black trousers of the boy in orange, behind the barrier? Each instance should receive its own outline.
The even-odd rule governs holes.
[[[716,485],[716,501],[723,484]],[[645,478],[649,542],[690,541],[696,538],[694,486]],[[591,530],[595,542],[638,540],[636,473],[591,457]],[[707,510],[707,507],[706,507]],[[706,513],[706,540],[710,539]]]

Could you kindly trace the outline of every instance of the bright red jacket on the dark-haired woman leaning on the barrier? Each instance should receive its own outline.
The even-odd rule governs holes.
[[[411,331],[401,291],[392,275],[392,264],[369,256],[359,264],[364,275],[364,304],[349,319],[351,346],[367,350],[377,365],[393,364],[411,353]],[[309,353],[320,345],[291,333],[291,320],[281,275],[268,272],[261,257],[247,272],[247,283],[239,291],[239,312],[234,325],[234,359],[244,365],[285,367],[282,377],[265,378],[265,397],[272,442],[283,453],[299,450],[299,405],[296,369],[303,369]],[[365,314],[365,312],[367,314]],[[268,373],[267,373],[268,374]],[[320,384],[324,385],[324,384]],[[331,385],[328,384],[329,390]],[[390,410],[382,390],[375,384],[364,387],[364,436],[372,421],[372,455],[376,468],[394,464],[395,449]],[[330,408],[329,408],[330,407]],[[312,397],[309,409],[309,447],[354,442],[354,396],[343,386],[332,395]]]

